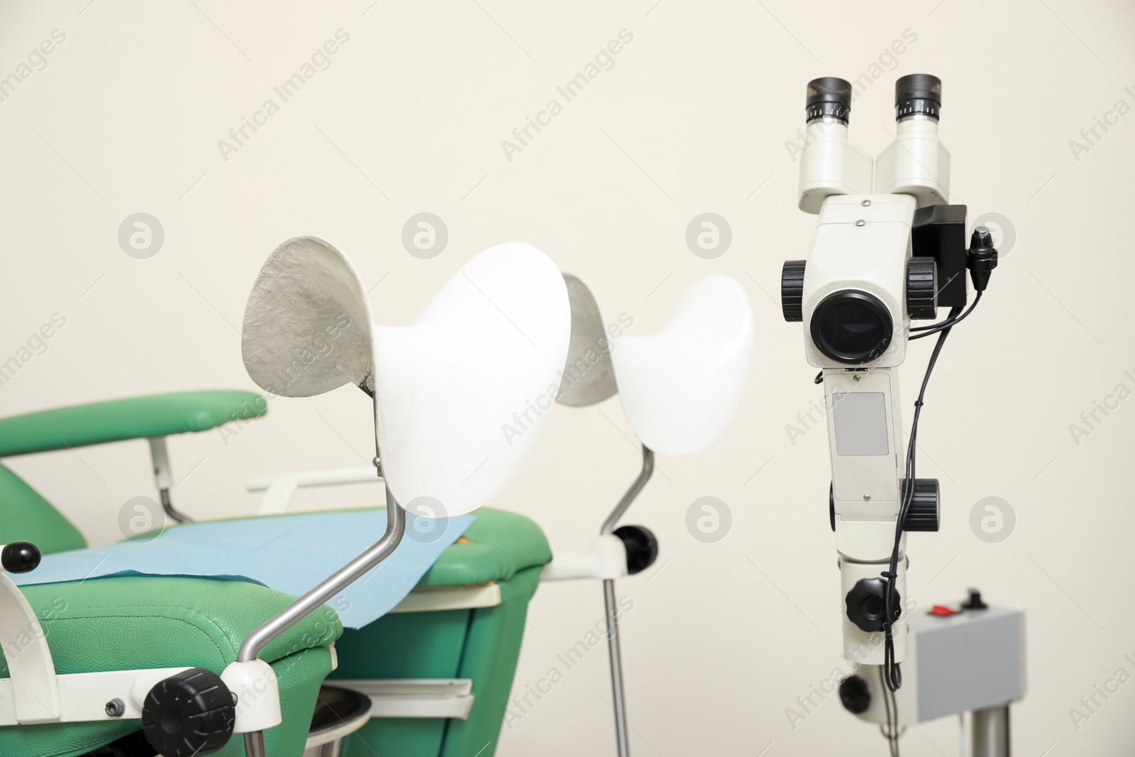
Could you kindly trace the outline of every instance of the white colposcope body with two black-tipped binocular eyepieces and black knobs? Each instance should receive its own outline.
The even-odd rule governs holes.
[[[843,597],[843,654],[881,665],[890,621],[894,662],[907,655],[906,536],[886,617],[885,588],[902,510],[905,449],[898,368],[911,319],[936,314],[936,261],[913,244],[916,212],[949,194],[949,152],[938,140],[941,84],[925,75],[897,86],[896,140],[872,162],[848,142],[852,91],[838,78],[808,85],[815,128],[800,162],[799,207],[817,213],[806,260],[782,275],[785,320],[804,326],[805,358],[821,369],[830,441],[830,518]],[[872,170],[874,169],[874,170]],[[916,521],[936,530],[936,482],[923,481]]]

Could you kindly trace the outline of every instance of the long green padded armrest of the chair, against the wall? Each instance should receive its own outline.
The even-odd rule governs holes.
[[[0,457],[205,431],[266,412],[263,397],[237,389],[173,392],[57,407],[0,419]]]

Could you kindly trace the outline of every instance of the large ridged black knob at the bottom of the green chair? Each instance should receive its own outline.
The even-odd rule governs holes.
[[[211,755],[233,735],[236,707],[220,676],[191,667],[159,681],[142,706],[142,732],[165,757]]]

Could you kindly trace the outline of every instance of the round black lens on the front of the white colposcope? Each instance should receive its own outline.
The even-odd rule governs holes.
[[[878,297],[859,289],[833,292],[812,311],[812,340],[832,360],[861,365],[891,344],[894,323]]]

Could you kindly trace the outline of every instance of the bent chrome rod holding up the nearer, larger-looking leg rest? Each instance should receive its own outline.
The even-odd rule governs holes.
[[[285,607],[279,614],[250,633],[236,655],[237,662],[251,662],[260,651],[289,628],[318,609],[351,583],[365,575],[372,567],[390,556],[406,531],[406,511],[398,505],[386,488],[386,533],[350,563],[335,571],[316,588]],[[252,731],[244,734],[246,757],[267,757],[264,732]]]

